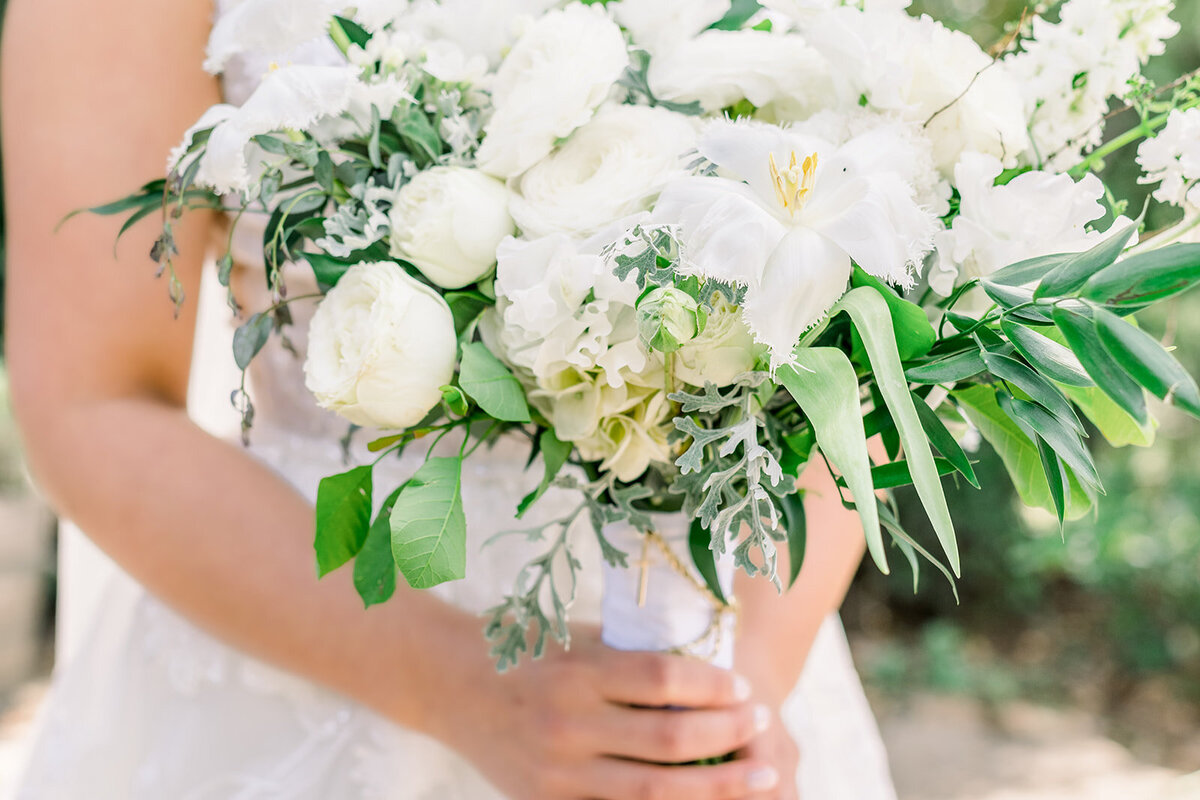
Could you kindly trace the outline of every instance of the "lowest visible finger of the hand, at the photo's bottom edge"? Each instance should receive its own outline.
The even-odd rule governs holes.
[[[779,784],[763,762],[713,766],[658,766],[598,759],[580,770],[583,796],[595,800],[743,800]]]

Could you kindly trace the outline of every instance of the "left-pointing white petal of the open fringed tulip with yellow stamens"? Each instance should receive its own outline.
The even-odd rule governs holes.
[[[683,271],[752,284],[787,229],[745,184],[688,178],[668,184],[653,218],[680,228]]]

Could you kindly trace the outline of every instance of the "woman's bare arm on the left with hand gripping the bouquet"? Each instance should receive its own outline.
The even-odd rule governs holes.
[[[53,503],[190,619],[440,738],[510,796],[720,800],[772,784],[755,759],[629,760],[689,762],[749,742],[762,715],[724,670],[581,636],[571,654],[500,679],[480,621],[433,595],[402,588],[367,613],[348,570],[318,582],[311,506],[187,419],[194,302],[174,320],[152,277],[158,223],[131,230],[115,259],[110,218],[52,233],[68,210],[161,174],[180,132],[217,100],[198,66],[210,14],[208,0],[8,2],[8,368],[30,465]],[[211,223],[176,224],[193,297]],[[667,705],[697,710],[647,708]]]

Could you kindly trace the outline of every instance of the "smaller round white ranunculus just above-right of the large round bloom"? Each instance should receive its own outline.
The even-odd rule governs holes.
[[[391,206],[391,254],[444,289],[479,281],[514,231],[504,184],[466,167],[418,173]]]

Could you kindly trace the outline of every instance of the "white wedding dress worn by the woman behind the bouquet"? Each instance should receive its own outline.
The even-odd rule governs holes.
[[[244,100],[263,72],[263,65],[228,72],[230,102]],[[240,261],[251,264],[257,243],[247,235]],[[250,277],[258,279],[248,284],[262,287],[260,276]],[[294,270],[293,295],[302,279]],[[234,437],[228,397],[238,378],[221,291],[206,276],[190,405],[210,431]],[[265,297],[242,299],[252,308],[266,305]],[[294,339],[302,347],[306,313],[295,311]],[[323,476],[344,469],[346,425],[312,404],[300,365],[275,342],[254,362],[250,453],[314,498]],[[463,485],[468,572],[434,590],[446,601],[482,610],[535,552],[520,537],[480,552],[492,534],[515,527],[508,511],[538,481],[535,470],[524,470],[527,455],[516,443],[502,443],[472,459]],[[412,457],[380,464],[377,493],[414,469]],[[565,503],[569,497],[551,494],[542,512]],[[586,566],[574,614],[596,620],[599,553],[586,531],[577,541]],[[503,800],[439,744],[198,630],[70,525],[60,561],[58,666],[18,800]],[[784,717],[803,753],[797,780],[804,800],[894,800],[880,734],[835,616],[822,627]]]

